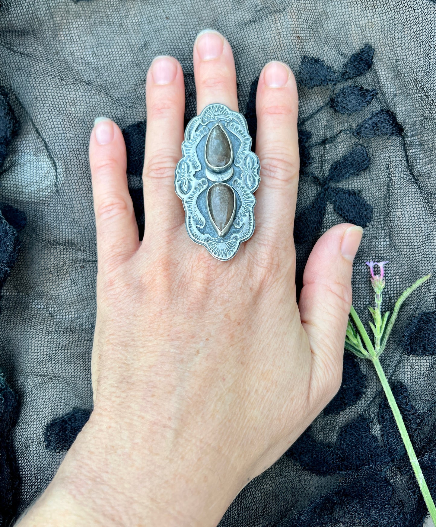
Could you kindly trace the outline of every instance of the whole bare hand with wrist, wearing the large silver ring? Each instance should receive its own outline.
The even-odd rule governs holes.
[[[193,58],[197,113],[210,103],[238,110],[229,43],[203,33]],[[122,133],[103,120],[91,135],[94,411],[23,524],[217,525],[341,383],[362,229],[337,225],[316,242],[297,305],[298,94],[288,66],[260,75],[256,229],[230,261],[191,241],[174,192],[184,118],[174,58],[153,61],[146,105],[142,242]]]

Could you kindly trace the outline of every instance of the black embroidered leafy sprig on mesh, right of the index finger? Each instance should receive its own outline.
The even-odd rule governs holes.
[[[373,55],[374,49],[366,44],[350,56],[340,72],[334,71],[319,58],[304,56],[301,60],[297,76],[298,82],[309,89],[315,86],[331,85],[333,93],[320,108],[299,122],[300,174],[312,177],[321,189],[313,202],[295,219],[294,239],[296,243],[311,240],[320,230],[328,202],[332,204],[339,216],[355,225],[366,227],[372,219],[373,208],[360,196],[359,192],[332,185],[332,183],[343,182],[358,175],[369,167],[368,151],[363,144],[356,145],[341,159],[335,161],[330,166],[327,177],[323,179],[310,172],[314,161],[313,147],[333,143],[344,133],[358,140],[381,135],[401,136],[403,129],[394,114],[382,109],[370,115],[354,129],[341,130],[318,143],[311,142],[312,134],[304,128],[304,124],[326,107],[330,107],[339,114],[352,114],[369,106],[377,95],[376,90],[368,90],[363,86],[345,85],[334,93],[334,88],[339,82],[348,81],[367,73],[372,66]]]

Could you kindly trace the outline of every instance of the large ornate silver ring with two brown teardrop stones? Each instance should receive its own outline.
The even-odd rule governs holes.
[[[187,124],[175,191],[187,233],[218,260],[230,260],[254,231],[260,164],[242,114],[209,104]]]

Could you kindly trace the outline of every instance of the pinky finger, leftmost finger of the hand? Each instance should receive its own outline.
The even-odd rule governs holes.
[[[140,241],[127,187],[124,138],[110,119],[95,120],[90,139],[90,165],[98,267],[113,267],[131,256]]]

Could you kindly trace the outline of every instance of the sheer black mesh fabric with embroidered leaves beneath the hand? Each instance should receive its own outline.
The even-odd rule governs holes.
[[[0,0],[1,526],[44,490],[92,410],[93,121],[106,115],[124,131],[142,233],[146,71],[158,54],[181,62],[187,122],[192,45],[205,27],[233,47],[253,138],[263,65],[295,72],[299,287],[315,240],[342,221],[364,228],[353,291],[365,320],[365,260],[389,260],[387,309],[435,270],[434,1]],[[435,292],[432,278],[409,298],[381,357],[434,499]],[[430,525],[372,364],[348,352],[338,395],[220,523],[303,525]]]

